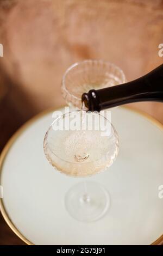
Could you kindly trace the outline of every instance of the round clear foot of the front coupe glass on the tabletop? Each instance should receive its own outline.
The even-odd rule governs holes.
[[[96,182],[81,182],[67,192],[65,205],[69,214],[78,221],[92,222],[102,218],[109,209],[108,191]]]

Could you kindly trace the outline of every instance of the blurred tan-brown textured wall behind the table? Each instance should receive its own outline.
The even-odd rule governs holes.
[[[158,45],[163,43],[161,0],[4,2],[0,64],[14,88],[11,100],[20,111],[36,113],[64,103],[61,78],[74,62],[109,60],[123,69],[128,81],[162,63],[158,56]],[[163,123],[163,104],[134,107]]]

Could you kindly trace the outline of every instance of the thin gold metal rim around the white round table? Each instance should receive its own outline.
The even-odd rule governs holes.
[[[58,109],[64,107],[63,105],[58,107],[58,108],[51,108],[51,109],[47,109],[45,111],[42,111],[39,114],[36,114],[33,118],[29,119],[26,123],[24,123],[15,133],[14,135],[11,136],[11,138],[9,139],[9,141],[7,142],[7,144],[5,145],[4,149],[2,150],[2,153],[0,155],[0,178],[1,178],[1,172],[2,172],[2,167],[3,167],[3,162],[5,160],[5,156],[7,156],[9,149],[11,148],[12,144],[14,144],[14,142],[16,141],[16,139],[21,135],[21,133],[23,131],[25,131],[31,124],[34,123],[34,121],[38,120],[39,118],[43,117],[44,115],[51,113],[52,111],[57,111]],[[163,124],[161,124],[158,120],[156,120],[155,118],[153,118],[151,115],[137,110],[133,107],[128,107],[128,106],[123,106],[121,108],[126,108],[129,111],[133,111],[139,115],[141,115],[142,117],[148,119],[149,121],[151,121],[151,123],[153,123],[155,126],[157,126],[160,130],[163,131]],[[3,199],[0,198],[0,211],[1,214],[5,220],[5,222],[8,224],[8,226],[10,227],[10,229],[27,245],[34,245],[34,243],[30,242],[26,237],[24,237],[21,232],[15,227],[14,223],[12,223],[10,217],[8,216],[7,211],[5,210],[4,204],[3,204]],[[161,243],[163,242],[163,234],[156,239],[151,245],[161,245]]]

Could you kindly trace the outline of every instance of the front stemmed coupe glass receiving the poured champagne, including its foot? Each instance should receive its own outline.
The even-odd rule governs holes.
[[[48,161],[61,173],[84,178],[100,173],[118,154],[114,126],[97,112],[74,111],[54,120],[46,132],[44,151]],[[78,221],[92,222],[109,208],[108,191],[96,182],[79,182],[65,195],[69,214]]]

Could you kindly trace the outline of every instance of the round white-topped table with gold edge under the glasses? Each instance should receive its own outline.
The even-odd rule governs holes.
[[[111,205],[103,218],[85,223],[74,220],[64,204],[66,192],[82,179],[54,170],[43,153],[52,113],[24,124],[2,152],[0,206],[9,227],[29,245],[161,244],[163,126],[132,109],[112,109],[120,153],[108,170],[87,178],[108,190]]]

